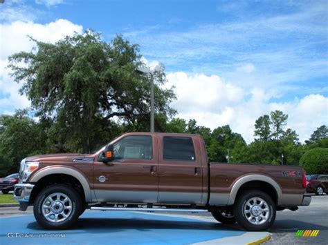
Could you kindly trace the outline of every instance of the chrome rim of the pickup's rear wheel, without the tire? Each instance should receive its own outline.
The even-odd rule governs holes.
[[[268,220],[270,208],[264,199],[252,197],[244,206],[244,215],[251,224],[261,225]]]

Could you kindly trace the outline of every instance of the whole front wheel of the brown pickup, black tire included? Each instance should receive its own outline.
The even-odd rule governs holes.
[[[57,198],[58,195],[55,195],[55,193],[60,194],[59,199]],[[53,197],[51,197],[51,195],[53,195]],[[64,202],[64,200],[66,200],[64,197],[68,197],[69,201]],[[47,200],[52,201],[50,202]],[[62,204],[58,204],[59,202],[61,202]],[[46,209],[43,208],[43,206],[48,206],[49,208]],[[53,213],[59,212],[60,210],[62,210],[63,213]],[[64,184],[54,184],[51,186],[47,186],[46,188],[41,190],[41,192],[39,193],[39,195],[37,195],[37,198],[35,199],[33,207],[35,219],[37,219],[37,222],[42,227],[48,230],[61,230],[73,226],[73,224],[75,224],[78,217],[80,216],[81,210],[82,200],[80,195],[71,186],[66,186]],[[51,213],[48,218],[46,218],[44,215],[44,213],[47,212],[49,214]],[[66,217],[64,217],[62,214],[66,215]],[[54,217],[56,217],[56,215],[57,217],[59,217],[59,219],[62,219],[62,221],[59,220],[58,222],[55,222]],[[49,219],[53,219],[54,221],[50,221]]]

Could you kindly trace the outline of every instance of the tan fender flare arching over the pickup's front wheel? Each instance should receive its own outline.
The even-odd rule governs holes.
[[[43,177],[47,175],[55,175],[55,174],[63,174],[63,175],[70,175],[78,179],[81,183],[85,202],[91,202],[91,189],[89,182],[87,181],[86,177],[80,173],[79,170],[76,168],[72,168],[71,166],[64,166],[64,165],[53,165],[53,166],[46,166],[45,168],[41,168],[38,170],[33,176],[30,177],[29,182],[38,182]]]

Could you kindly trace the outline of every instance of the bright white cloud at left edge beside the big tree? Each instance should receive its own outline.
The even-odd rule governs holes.
[[[28,35],[39,41],[54,43],[66,35],[73,35],[74,32],[81,33],[82,26],[65,19],[46,24],[14,21],[1,23],[0,30],[0,112],[8,112],[30,106],[28,99],[19,95],[22,84],[17,84],[9,76],[10,70],[6,68],[8,56],[19,51],[29,52],[33,48],[35,43],[30,41]]]

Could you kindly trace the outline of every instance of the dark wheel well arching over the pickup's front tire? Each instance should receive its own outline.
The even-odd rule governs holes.
[[[71,175],[64,175],[64,174],[53,174],[53,175],[46,175],[39,179],[39,181],[35,184],[32,193],[30,194],[30,204],[33,204],[37,194],[46,186],[51,186],[53,184],[66,184],[74,188],[79,195],[81,196],[82,202],[85,202],[85,195],[82,184]]]

